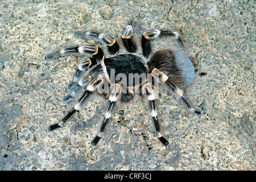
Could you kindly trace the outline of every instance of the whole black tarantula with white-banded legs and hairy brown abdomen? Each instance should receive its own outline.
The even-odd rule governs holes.
[[[67,103],[80,93],[79,100],[60,122],[48,127],[48,132],[63,127],[77,111],[86,105],[89,96],[94,92],[100,93],[108,100],[108,107],[100,129],[90,143],[90,147],[95,147],[104,136],[106,125],[113,116],[115,105],[118,102],[130,101],[134,94],[139,94],[148,102],[156,137],[167,148],[170,147],[170,143],[164,137],[156,108],[159,90],[166,89],[167,93],[174,95],[177,100],[181,101],[190,113],[203,115],[202,111],[195,109],[185,98],[185,93],[201,73],[198,71],[197,61],[187,53],[180,34],[170,30],[147,30],[141,36],[143,53],[139,54],[134,36],[137,27],[138,21],[131,20],[122,32],[120,40],[126,48],[127,53],[125,54],[118,54],[119,44],[113,36],[96,31],[80,31],[76,32],[77,37],[100,40],[108,48],[110,56],[105,56],[102,49],[94,45],[61,48],[59,51],[46,56],[46,60],[52,60],[69,54],[91,55],[79,63],[73,80],[67,87],[69,94],[61,102]],[[151,40],[165,36],[172,36],[179,47],[152,52]]]

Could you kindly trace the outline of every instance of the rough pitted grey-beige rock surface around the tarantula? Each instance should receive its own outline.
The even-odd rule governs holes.
[[[253,1],[3,1],[0,3],[0,170],[255,170],[255,3]],[[63,129],[46,133],[74,102],[60,100],[81,57],[46,61],[60,47],[97,44],[76,31],[119,38],[137,18],[179,31],[199,61],[188,114],[174,97],[158,100],[171,147],[156,139],[147,104],[118,105],[104,139],[90,148],[105,113],[94,96]],[[139,38],[139,36],[138,36]],[[170,47],[171,38],[152,42]],[[139,39],[138,39],[139,43]],[[124,51],[124,49],[122,49]],[[141,49],[139,49],[141,52]]]

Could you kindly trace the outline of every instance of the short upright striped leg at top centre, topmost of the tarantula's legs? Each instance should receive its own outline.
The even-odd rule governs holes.
[[[133,39],[134,28],[137,25],[137,20],[131,20],[130,23],[125,27],[122,34],[123,45],[128,52],[136,52],[137,46]]]

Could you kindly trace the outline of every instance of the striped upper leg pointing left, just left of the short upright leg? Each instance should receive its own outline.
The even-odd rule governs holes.
[[[80,31],[80,32],[76,32],[75,35],[81,39],[87,39],[88,37],[97,38],[101,40],[101,42],[106,44],[110,54],[114,55],[118,53],[119,45],[117,43],[117,40],[115,40],[112,36],[108,34],[101,34],[95,31],[88,31],[88,32]]]

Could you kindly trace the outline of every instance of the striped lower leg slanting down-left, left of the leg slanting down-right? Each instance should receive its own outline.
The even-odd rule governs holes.
[[[98,130],[96,137],[94,137],[94,139],[92,140],[90,147],[95,147],[96,144],[103,137],[106,125],[108,124],[109,119],[112,118],[112,116],[113,116],[113,110],[114,110],[115,103],[119,100],[119,98],[121,96],[121,91],[122,91],[122,86],[119,84],[114,84],[113,89],[110,92],[109,105],[108,105],[108,108],[106,109],[104,121],[102,122],[101,127]]]

